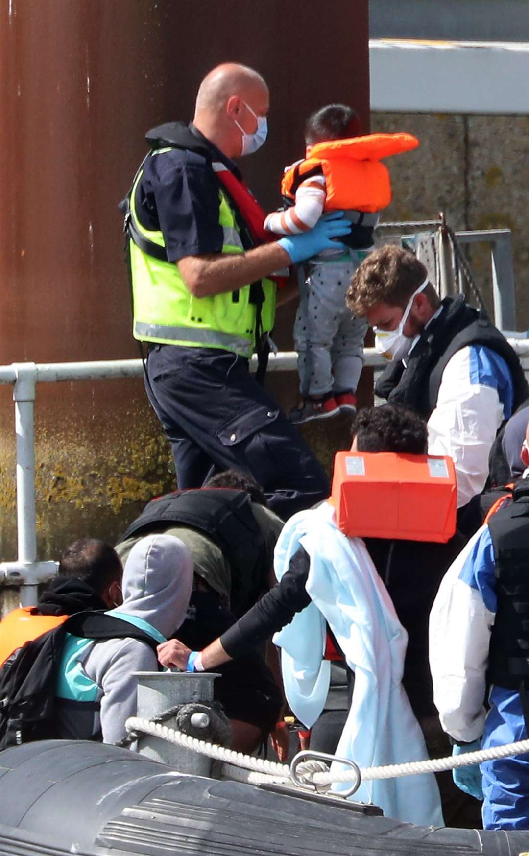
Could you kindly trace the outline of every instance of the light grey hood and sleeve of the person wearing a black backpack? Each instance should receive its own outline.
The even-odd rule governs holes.
[[[193,560],[185,544],[171,535],[149,535],[130,551],[123,572],[123,603],[110,614],[146,621],[165,638],[186,617],[192,583]],[[100,690],[101,710],[96,716],[100,716],[104,743],[116,743],[126,736],[128,717],[136,714],[134,672],[158,671],[156,654],[139,639],[109,639],[88,645],[80,660],[85,674]],[[91,736],[84,718],[68,722],[65,730],[69,736],[81,740]],[[88,731],[94,727],[93,713],[91,718]],[[95,724],[98,728],[98,722]]]

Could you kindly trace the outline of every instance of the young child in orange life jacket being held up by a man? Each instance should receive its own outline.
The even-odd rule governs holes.
[[[312,113],[306,159],[287,167],[282,178],[286,207],[265,219],[265,229],[276,235],[312,229],[326,211],[344,211],[353,224],[340,239],[345,249],[319,253],[300,277],[294,347],[302,401],[290,413],[296,423],[356,408],[367,324],[351,314],[345,295],[354,270],[373,248],[377,212],[391,200],[389,173],[379,159],[419,146],[411,134],[360,134],[360,118],[345,104]]]

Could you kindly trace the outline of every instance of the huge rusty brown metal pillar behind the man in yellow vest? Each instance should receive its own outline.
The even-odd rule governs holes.
[[[308,112],[345,101],[368,122],[367,5],[0,0],[0,364],[136,356],[116,205],[143,134],[190,118],[217,62],[258,68],[270,83],[270,138],[244,169],[275,207]],[[284,314],[277,339],[289,348],[292,310]],[[293,380],[278,383],[286,405]],[[2,559],[15,556],[12,425],[10,390],[0,388]],[[115,537],[173,486],[140,381],[40,386],[36,429],[43,557],[82,534]],[[314,442],[329,461],[331,444]]]

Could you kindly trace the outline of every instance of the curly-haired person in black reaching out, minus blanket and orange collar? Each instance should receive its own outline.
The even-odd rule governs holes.
[[[427,444],[425,421],[416,413],[404,407],[383,405],[360,410],[354,419],[352,429],[353,449],[359,452],[395,452],[404,455],[424,455]],[[310,513],[312,514],[312,512]],[[436,709],[433,704],[431,677],[428,668],[428,614],[437,592],[437,586],[446,569],[461,550],[459,536],[448,544],[429,544],[415,541],[366,538],[366,547],[372,562],[389,596],[395,605],[395,611],[401,624],[407,630],[408,645],[404,663],[402,683],[406,689],[415,716],[425,731],[428,745],[440,742],[441,752],[445,751],[443,736],[439,734]],[[240,621],[230,627],[226,633],[201,652],[201,663],[205,669],[217,668],[217,663],[226,662],[229,657],[239,657],[251,645],[259,644],[271,633],[288,625],[297,612],[311,603],[306,591],[310,571],[310,559],[306,550],[300,550],[290,560],[288,571],[282,575],[277,585],[261,598],[253,609],[242,616]],[[180,635],[180,634],[179,634]],[[173,663],[186,668],[190,651],[181,641],[171,639],[159,649],[164,665]],[[196,668],[195,659],[195,668]],[[351,675],[349,675],[351,678]],[[352,681],[349,683],[352,692]],[[340,723],[343,726],[343,719]],[[328,722],[315,728],[313,748],[325,751],[336,749],[339,731],[332,738],[326,734]],[[341,728],[340,728],[341,730]],[[316,743],[314,743],[316,740]],[[445,821],[455,821],[457,812],[464,799],[452,787],[451,777],[441,774],[439,782],[443,790],[443,808]],[[447,786],[447,792],[444,788]],[[470,821],[478,823],[472,817]]]

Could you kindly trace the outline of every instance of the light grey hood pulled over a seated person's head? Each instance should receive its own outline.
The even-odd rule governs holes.
[[[130,551],[123,571],[119,612],[142,618],[169,636],[186,617],[192,584],[193,559],[180,538],[141,538]]]

